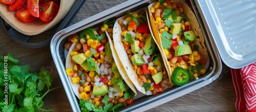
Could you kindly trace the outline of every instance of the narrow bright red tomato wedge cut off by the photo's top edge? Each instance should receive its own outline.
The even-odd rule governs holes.
[[[31,15],[39,17],[39,0],[28,0],[28,10]]]

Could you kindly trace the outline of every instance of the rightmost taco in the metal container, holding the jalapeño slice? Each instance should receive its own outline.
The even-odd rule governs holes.
[[[175,85],[206,72],[208,52],[197,18],[182,1],[160,1],[148,6],[152,33],[156,38],[168,74]]]

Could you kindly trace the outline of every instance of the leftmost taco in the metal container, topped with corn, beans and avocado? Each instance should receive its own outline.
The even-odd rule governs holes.
[[[82,111],[114,110],[132,104],[137,95],[119,60],[114,59],[106,35],[113,28],[104,27],[84,29],[69,39],[73,43],[66,59],[66,73]]]

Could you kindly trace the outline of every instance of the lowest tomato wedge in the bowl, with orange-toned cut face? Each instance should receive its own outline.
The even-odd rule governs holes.
[[[23,23],[30,23],[36,19],[36,17],[32,16],[29,13],[28,9],[20,8],[16,11],[16,16],[20,21],[23,21]]]

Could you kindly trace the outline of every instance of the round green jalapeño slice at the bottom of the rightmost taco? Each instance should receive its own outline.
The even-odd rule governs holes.
[[[171,80],[174,84],[181,86],[189,82],[190,75],[185,69],[178,66],[174,69]]]

